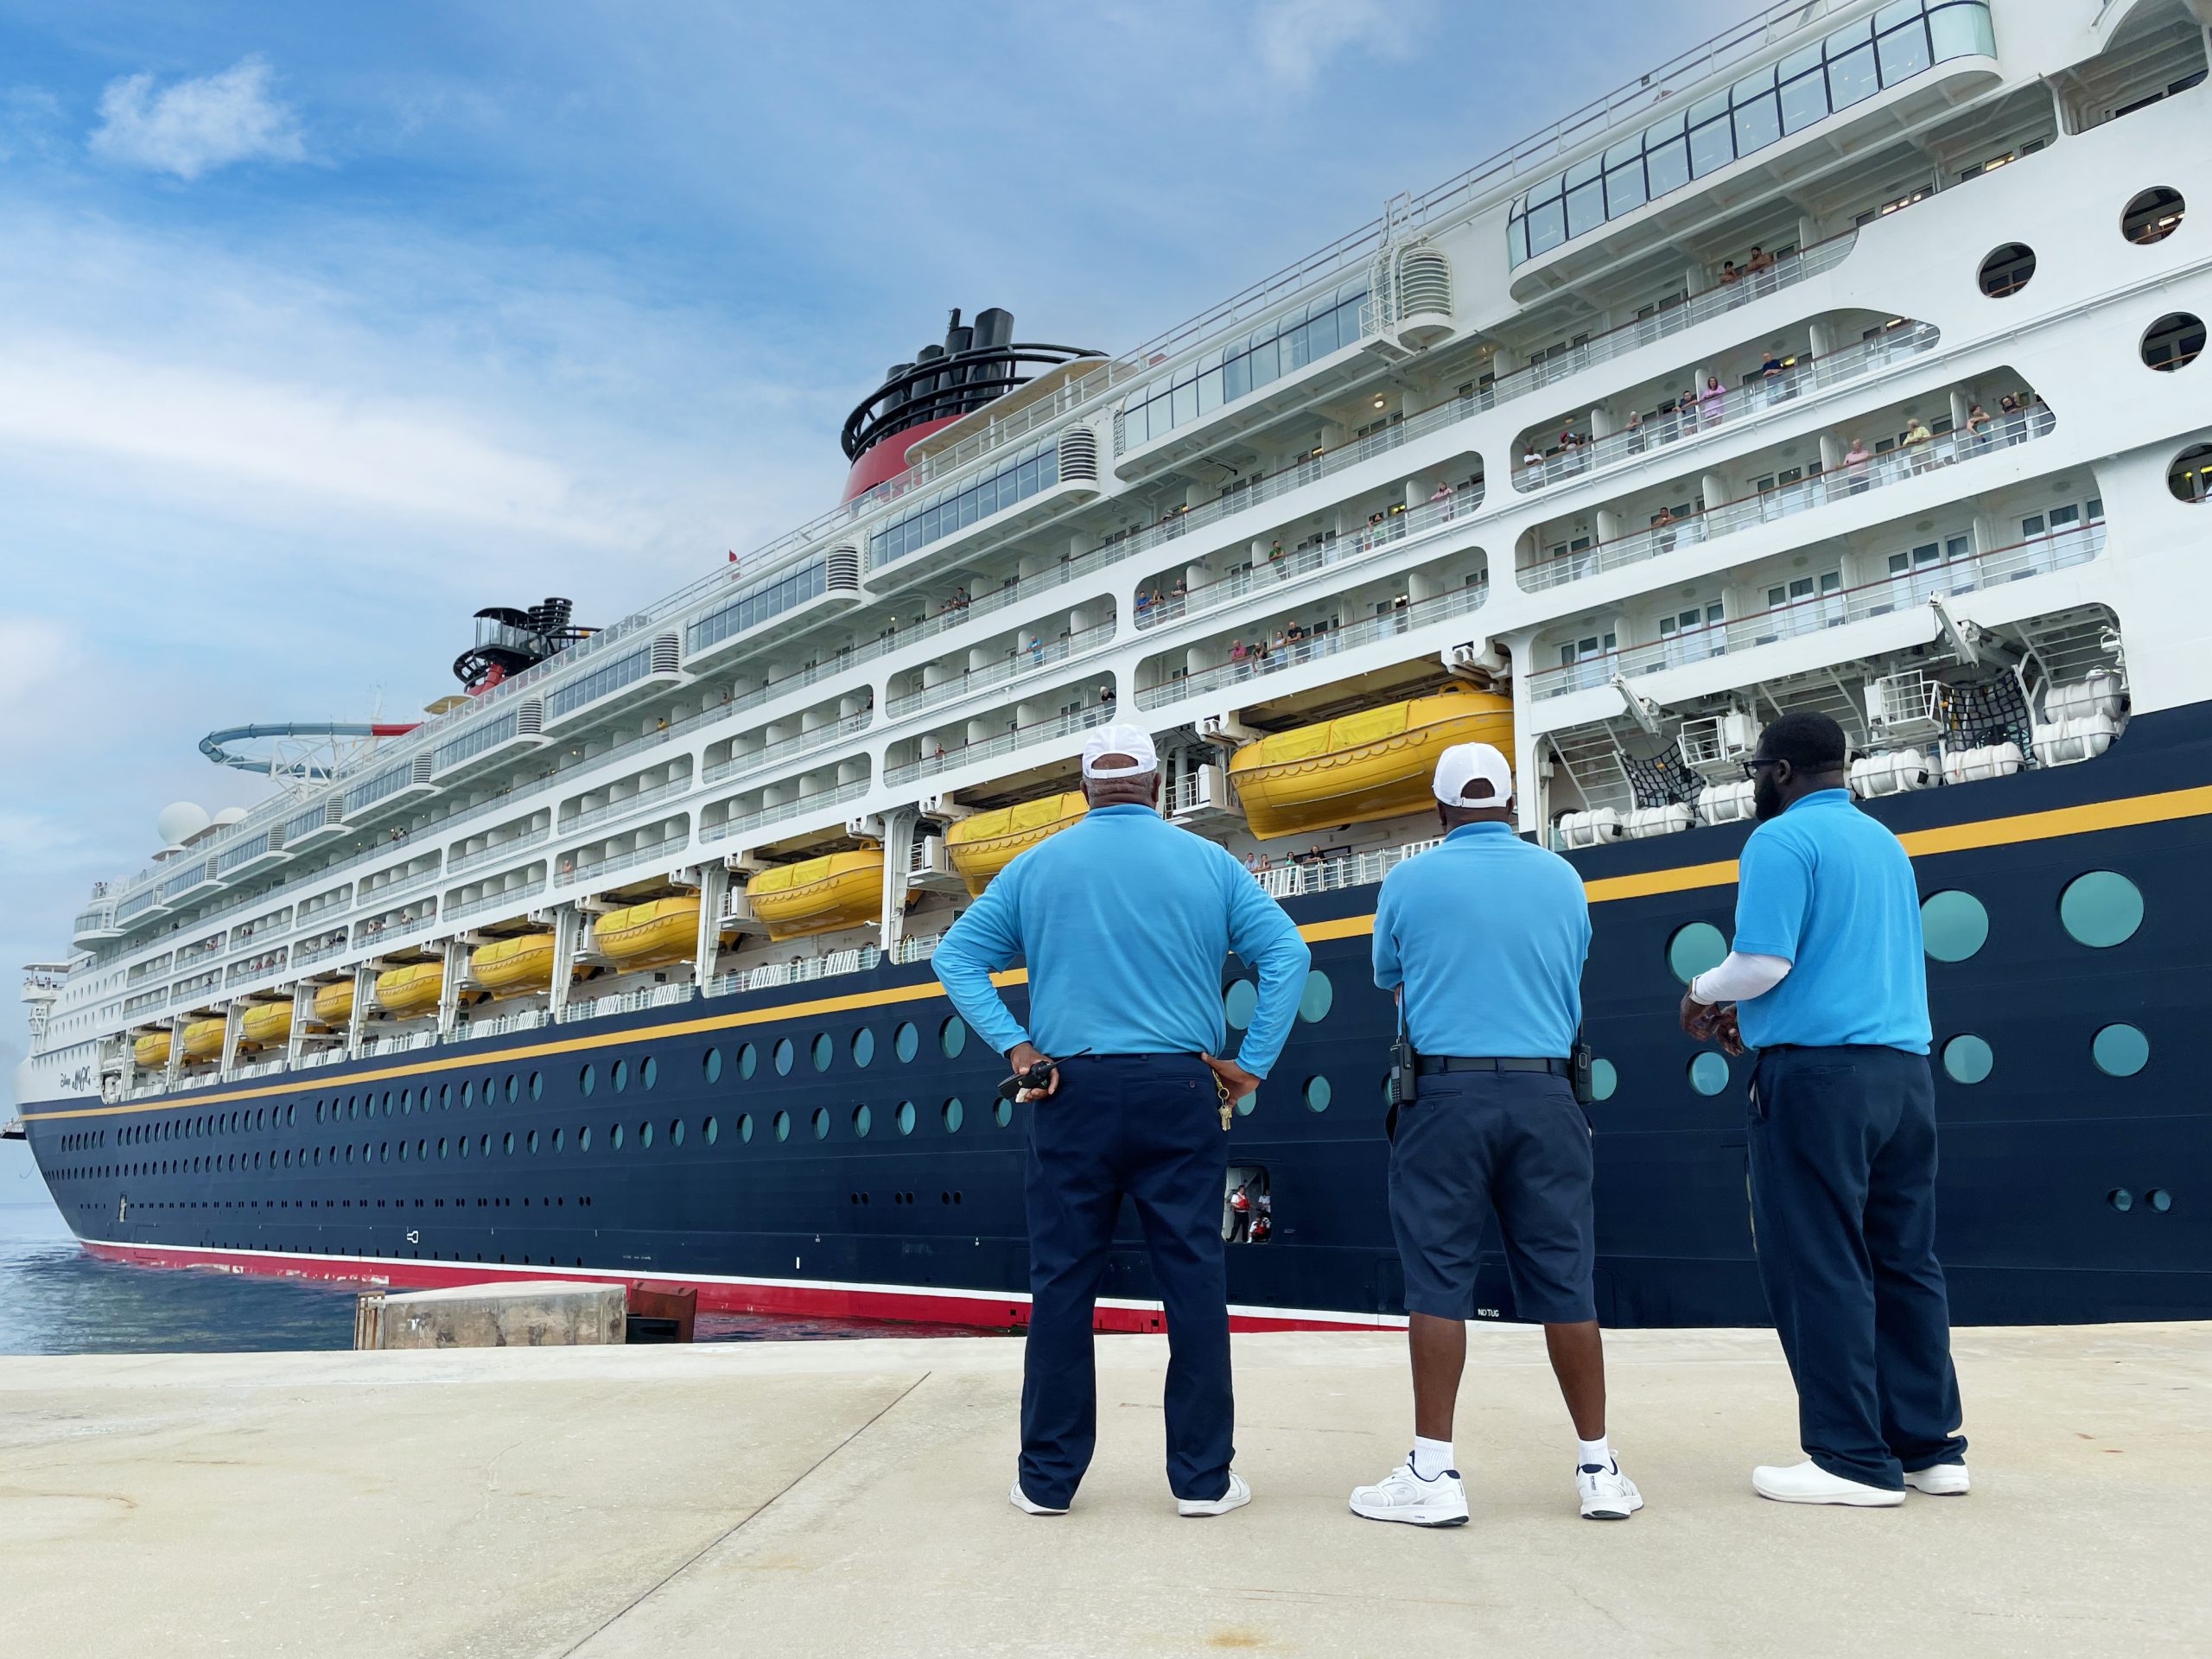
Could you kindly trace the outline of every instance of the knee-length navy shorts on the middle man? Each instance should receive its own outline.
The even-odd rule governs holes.
[[[1566,1077],[1453,1071],[1398,1113],[1389,1212],[1411,1314],[1469,1318],[1482,1228],[1498,1214],[1513,1318],[1597,1318],[1590,1119]]]

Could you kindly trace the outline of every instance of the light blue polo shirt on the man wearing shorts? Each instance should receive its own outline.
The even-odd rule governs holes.
[[[1413,1053],[1566,1060],[1588,953],[1582,876],[1504,823],[1462,823],[1376,898],[1376,984],[1405,987]]]

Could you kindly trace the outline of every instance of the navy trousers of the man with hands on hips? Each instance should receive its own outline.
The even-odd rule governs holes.
[[[1066,1506],[1097,1444],[1091,1318],[1124,1194],[1137,1206],[1168,1316],[1168,1486],[1230,1489],[1228,1272],[1221,1192],[1230,1137],[1197,1055],[1095,1055],[1060,1066],[1031,1106],[1029,1349],[1022,1360],[1022,1491]]]

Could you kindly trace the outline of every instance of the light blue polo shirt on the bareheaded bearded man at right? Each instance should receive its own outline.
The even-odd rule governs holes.
[[[1781,984],[1736,1004],[1747,1046],[1929,1051],[1913,860],[1849,792],[1792,801],[1743,843],[1734,949],[1790,962]]]

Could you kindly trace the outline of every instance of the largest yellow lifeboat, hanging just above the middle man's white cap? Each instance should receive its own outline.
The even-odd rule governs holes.
[[[1444,690],[1274,732],[1237,750],[1230,781],[1252,834],[1294,836],[1418,812],[1433,799],[1436,757],[1453,743],[1495,743],[1511,754],[1511,699]]]

